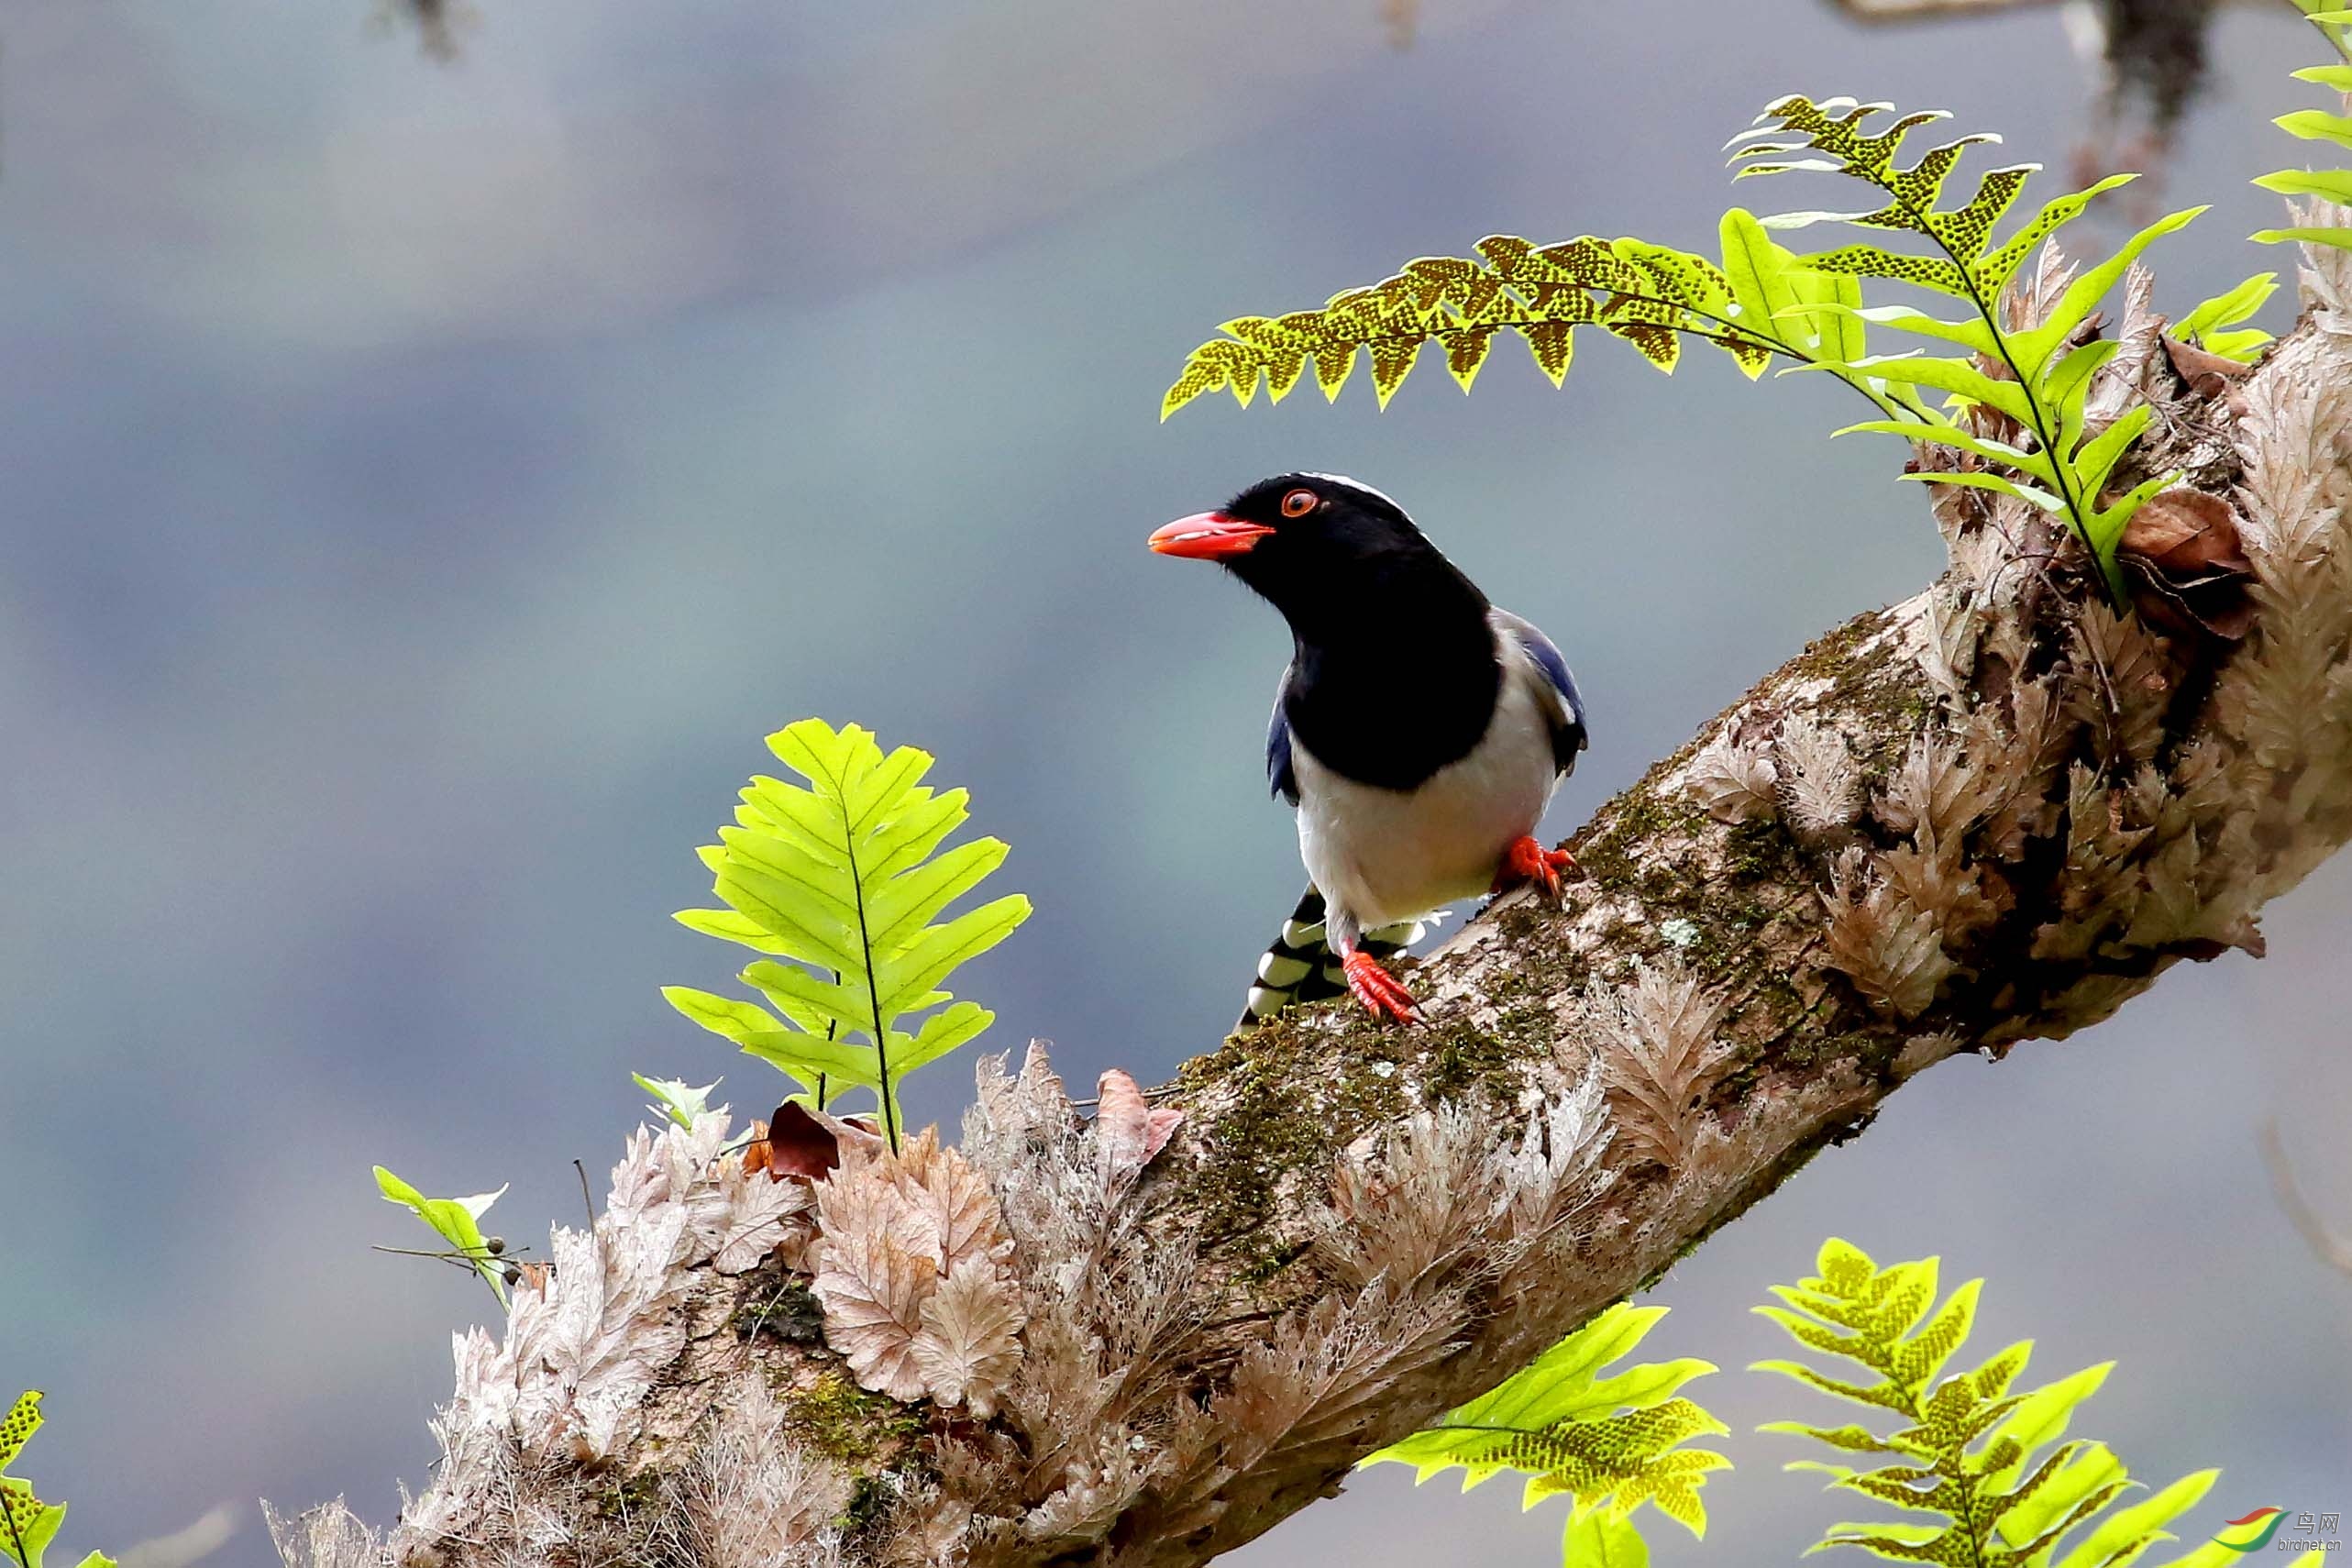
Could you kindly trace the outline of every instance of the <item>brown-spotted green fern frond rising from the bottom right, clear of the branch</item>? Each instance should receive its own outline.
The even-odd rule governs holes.
[[[2018,1392],[2032,1354],[2032,1340],[2020,1340],[1973,1371],[1938,1380],[1969,1340],[1983,1281],[1971,1279],[1936,1305],[1933,1258],[1882,1269],[1837,1239],[1823,1244],[1816,1267],[1816,1279],[1773,1286],[1783,1305],[1757,1312],[1802,1347],[1858,1363],[1867,1378],[1832,1378],[1802,1361],[1757,1361],[1755,1371],[1783,1373],[1809,1389],[1891,1413],[1896,1425],[1882,1432],[1867,1425],[1771,1422],[1764,1432],[1884,1455],[1891,1462],[1877,1469],[1813,1460],[1790,1469],[1813,1469],[1828,1474],[1835,1488],[1938,1519],[1835,1523],[1816,1552],[1860,1547],[1945,1568],[2124,1568],[2173,1540],[2164,1526],[2194,1507],[2220,1474],[2201,1469],[2114,1507],[2133,1486],[2124,1462],[2105,1443],[2060,1441],[2074,1408],[2098,1392],[2112,1363]],[[2067,1537],[2074,1537],[2072,1547]],[[2230,1561],[2237,1556],[2227,1547],[2209,1542],[2169,1568]]]

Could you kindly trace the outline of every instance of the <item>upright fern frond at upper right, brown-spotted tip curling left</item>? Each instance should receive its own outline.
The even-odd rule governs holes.
[[[1905,139],[1922,125],[1945,120],[1940,110],[1898,113],[1884,129],[1872,129],[1889,103],[1853,99],[1788,96],[1764,110],[1757,129],[1733,141],[1738,176],[1820,172],[1842,174],[1875,186],[1886,200],[1867,212],[1788,212],[1766,216],[1766,228],[1806,228],[1811,223],[1856,223],[1926,240],[1933,254],[1891,252],[1882,244],[1844,244],[1799,256],[1802,266],[1860,277],[1886,277],[1966,301],[1973,315],[1943,320],[1910,306],[1860,310],[1867,322],[1917,336],[1957,343],[1959,357],[1896,355],[1872,357],[1849,369],[1867,371],[1912,390],[1947,393],[1955,409],[1929,409],[1924,400],[1896,418],[1849,425],[1879,430],[1915,442],[1931,442],[1973,454],[1992,468],[1966,473],[1910,473],[1907,480],[1971,484],[2027,501],[2065,517],[2067,527],[2098,562],[2110,595],[2124,602],[2126,588],[2114,550],[2124,527],[2140,503],[2171,484],[2161,475],[2107,501],[2105,487],[2124,454],[2154,418],[2136,407],[2098,435],[2086,430],[2091,378],[2117,353],[2112,341],[2077,341],[2086,331],[2100,299],[2124,277],[2147,244],[2190,223],[2204,207],[2166,214],[2124,242],[2119,252],[2091,266],[2051,306],[2034,327],[2004,329],[1999,299],[2018,268],[2056,230],[2082,216],[2091,197],[2112,190],[2131,174],[2110,174],[2082,190],[2070,190],[2042,205],[2006,240],[1994,240],[2009,209],[2025,193],[2037,165],[2006,165],[1978,176],[1976,193],[1959,207],[1938,207],[1945,181],[1971,146],[1997,141],[1990,134],[1955,136],[1922,153],[1910,167],[1898,165]],[[1818,155],[1813,155],[1818,153]],[[1839,310],[1842,306],[1830,306]],[[1959,411],[1980,404],[2006,416],[2020,442],[2004,442],[1964,425]],[[1842,433],[1844,435],[1844,433]],[[2009,477],[2011,473],[2023,480]]]

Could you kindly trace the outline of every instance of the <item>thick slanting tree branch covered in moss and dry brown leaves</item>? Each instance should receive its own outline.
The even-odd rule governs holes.
[[[849,1147],[814,1194],[715,1161],[715,1121],[640,1131],[506,1342],[459,1340],[433,1490],[383,1542],[275,1521],[287,1561],[1204,1563],[1936,1060],[2258,952],[2263,903],[2352,835],[2340,261],[2251,374],[2187,357],[2197,388],[2136,280],[2096,397],[2154,402],[2143,473],[2237,531],[2251,576],[2190,597],[2227,630],[2246,595],[2244,639],[2117,616],[2063,529],[1933,487],[1950,571],[1602,806],[1557,907],[1508,896],[1421,961],[1423,1027],[1232,1037],[1157,1154],[1164,1124],[1117,1084],[1082,1119],[1037,1051],[983,1063],[960,1150]],[[856,1319],[884,1255],[924,1267]]]

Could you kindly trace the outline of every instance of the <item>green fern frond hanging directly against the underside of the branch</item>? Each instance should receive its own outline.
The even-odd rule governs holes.
[[[1566,1493],[1562,1561],[1569,1568],[1637,1568],[1649,1561],[1632,1512],[1644,1502],[1705,1537],[1698,1488],[1731,1460],[1682,1448],[1729,1432],[1679,1394],[1710,1361],[1651,1361],[1602,1378],[1665,1316],[1665,1307],[1616,1305],[1543,1352],[1501,1387],[1449,1410],[1437,1425],[1381,1448],[1364,1465],[1411,1465],[1414,1483],[1461,1467],[1463,1490],[1505,1469],[1526,1476],[1524,1505]]]

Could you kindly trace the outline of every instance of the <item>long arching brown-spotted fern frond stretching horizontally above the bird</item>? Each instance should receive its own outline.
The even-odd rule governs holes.
[[[1863,357],[1863,322],[1802,306],[1860,306],[1851,277],[1792,266],[1792,256],[1745,212],[1724,214],[1724,261],[1646,240],[1592,235],[1534,244],[1489,235],[1475,256],[1421,256],[1364,289],[1334,294],[1319,310],[1244,315],[1218,327],[1225,336],[1192,350],[1167,390],[1160,418],[1195,397],[1225,390],[1244,409],[1265,388],[1282,402],[1308,367],[1327,400],[1371,362],[1381,407],[1404,386],[1421,350],[1437,343],[1446,369],[1468,393],[1494,341],[1517,334],[1536,369],[1562,386],[1576,353],[1576,329],[1597,327],[1632,343],[1661,371],[1682,360],[1682,341],[1712,343],[1750,378],[1776,355],[1846,376],[1889,414],[1882,386],[1846,374]]]

